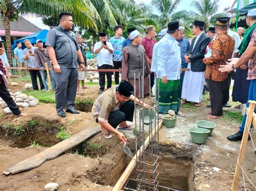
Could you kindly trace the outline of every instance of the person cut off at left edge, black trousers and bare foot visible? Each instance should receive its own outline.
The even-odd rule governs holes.
[[[0,48],[0,55],[2,54],[4,54],[3,43]],[[12,111],[14,115],[22,116],[22,117],[28,116],[28,114],[22,113],[21,110],[19,110],[16,103],[14,102],[14,100],[12,100],[12,97],[6,88],[5,83],[6,83],[6,73],[3,67],[2,60],[0,59],[0,97],[2,97],[3,101],[5,101],[5,103],[8,105],[9,109]]]

